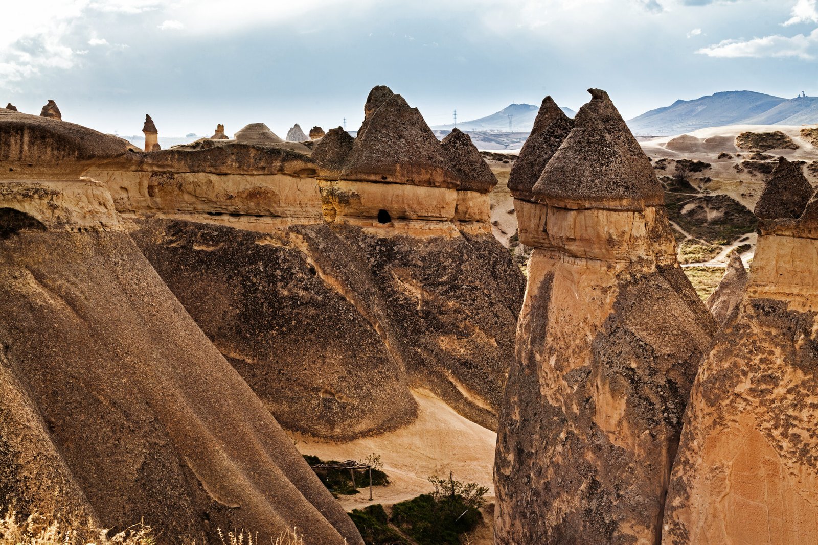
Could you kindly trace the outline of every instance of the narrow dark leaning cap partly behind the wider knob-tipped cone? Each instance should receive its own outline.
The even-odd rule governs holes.
[[[573,119],[565,115],[551,96],[542,99],[531,135],[519,150],[519,159],[511,168],[508,188],[515,199],[533,199],[531,190],[534,184],[572,128]]]

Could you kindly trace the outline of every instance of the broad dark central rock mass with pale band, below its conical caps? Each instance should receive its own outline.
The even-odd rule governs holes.
[[[488,213],[456,219],[460,181],[432,138],[451,187],[342,179],[355,142],[340,128],[312,159],[228,143],[88,175],[285,428],[351,440],[402,427],[417,387],[494,428],[524,278]],[[464,172],[482,172],[477,157]]]

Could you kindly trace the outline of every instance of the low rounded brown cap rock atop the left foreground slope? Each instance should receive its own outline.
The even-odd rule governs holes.
[[[0,176],[79,176],[124,155],[128,142],[56,118],[0,109]]]

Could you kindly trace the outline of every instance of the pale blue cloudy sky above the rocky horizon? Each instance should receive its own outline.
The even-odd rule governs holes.
[[[625,118],[720,91],[818,95],[818,0],[3,2],[0,106],[160,136],[360,126],[388,85],[430,125],[588,87]]]

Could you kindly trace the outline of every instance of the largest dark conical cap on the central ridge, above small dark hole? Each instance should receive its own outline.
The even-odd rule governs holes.
[[[344,167],[344,179],[448,188],[459,185],[438,139],[418,109],[410,108],[402,96],[389,87],[375,87],[366,99],[364,114]]]

